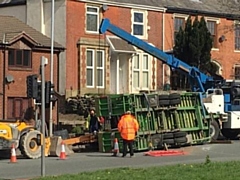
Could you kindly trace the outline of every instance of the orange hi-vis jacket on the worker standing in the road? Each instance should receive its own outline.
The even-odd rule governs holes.
[[[134,140],[138,129],[139,124],[137,120],[130,114],[123,115],[118,122],[118,131],[125,140]]]

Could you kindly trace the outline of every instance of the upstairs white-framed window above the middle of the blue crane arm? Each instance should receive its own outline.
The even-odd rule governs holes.
[[[132,11],[132,34],[141,38],[147,36],[146,12]]]

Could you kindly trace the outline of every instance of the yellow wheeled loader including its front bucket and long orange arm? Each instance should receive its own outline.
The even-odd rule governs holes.
[[[45,142],[42,142],[42,133],[40,132],[41,120],[37,121],[0,121],[0,153],[10,150],[12,146],[21,151],[21,154],[29,159],[38,159],[41,157],[41,145],[45,143],[45,156],[60,156],[61,143],[65,144],[65,153],[73,153],[72,145],[88,144],[97,141],[96,135],[85,134],[79,137],[62,139],[61,136],[45,136]],[[47,130],[46,130],[47,132]]]

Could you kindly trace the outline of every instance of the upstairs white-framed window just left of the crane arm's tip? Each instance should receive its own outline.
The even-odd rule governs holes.
[[[87,32],[98,33],[99,28],[99,7],[87,6],[86,30]]]

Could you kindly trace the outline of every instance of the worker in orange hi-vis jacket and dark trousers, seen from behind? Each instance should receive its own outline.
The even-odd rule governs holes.
[[[133,143],[136,133],[139,129],[139,124],[136,118],[131,115],[131,111],[127,111],[118,122],[118,131],[123,139],[123,155],[127,155],[127,147],[130,150],[130,157],[134,156]]]

